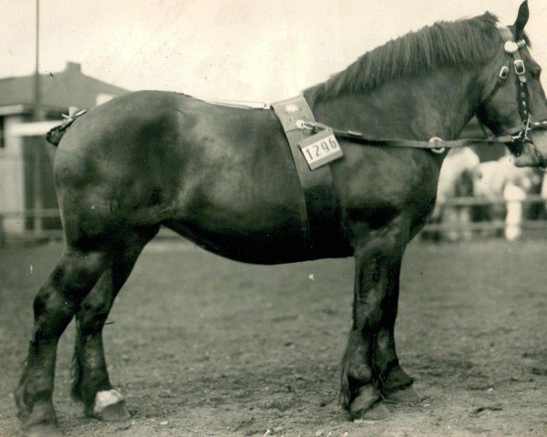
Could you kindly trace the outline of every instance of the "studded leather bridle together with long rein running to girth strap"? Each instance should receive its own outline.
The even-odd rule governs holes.
[[[357,132],[353,130],[340,130],[335,127],[330,127],[335,133],[336,137],[343,137],[352,142],[359,142],[368,145],[377,145],[377,146],[392,146],[392,147],[412,147],[412,148],[422,148],[428,149],[434,153],[443,153],[447,148],[454,147],[464,147],[464,146],[473,146],[477,143],[482,144],[503,144],[503,145],[516,145],[518,147],[517,153],[521,152],[522,147],[525,143],[531,143],[534,149],[534,152],[540,163],[540,167],[547,167],[547,159],[543,158],[541,152],[533,145],[532,140],[528,137],[528,133],[532,130],[542,130],[547,129],[547,117],[539,121],[532,120],[532,114],[529,112],[529,92],[526,82],[526,68],[524,66],[524,61],[521,58],[519,50],[526,46],[525,40],[520,40],[515,42],[511,29],[509,27],[501,27],[498,29],[501,34],[501,38],[505,42],[504,49],[505,52],[509,55],[510,59],[506,66],[502,66],[496,85],[490,92],[489,96],[486,97],[481,103],[480,106],[483,106],[487,103],[496,92],[503,86],[506,82],[507,77],[510,73],[510,66],[512,65],[515,73],[517,75],[517,83],[519,88],[519,94],[517,97],[517,102],[519,105],[519,114],[521,116],[521,124],[516,127],[511,127],[511,129],[506,130],[500,135],[494,137],[486,134],[486,130],[483,125],[480,123],[480,127],[485,133],[485,138],[463,138],[463,139],[450,139],[443,140],[439,137],[432,137],[428,141],[420,141],[413,139],[398,139],[398,138],[377,138],[377,137],[366,137],[362,132]],[[301,121],[301,120],[299,120]],[[304,130],[309,129],[312,131],[320,131],[328,126],[319,123],[319,122],[309,122],[302,120],[301,123],[297,123],[297,127]],[[517,155],[518,156],[518,155]]]

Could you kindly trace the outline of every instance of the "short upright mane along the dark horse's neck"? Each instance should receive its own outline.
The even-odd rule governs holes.
[[[367,52],[324,83],[304,91],[312,104],[351,92],[366,92],[389,80],[418,76],[434,68],[476,65],[492,56],[498,18],[489,12],[439,22]]]

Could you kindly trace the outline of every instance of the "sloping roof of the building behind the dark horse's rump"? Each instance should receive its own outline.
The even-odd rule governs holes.
[[[34,76],[0,79],[0,107],[34,107]],[[44,108],[90,108],[99,95],[119,96],[129,90],[82,74],[81,66],[68,62],[59,73],[40,75],[40,103]]]

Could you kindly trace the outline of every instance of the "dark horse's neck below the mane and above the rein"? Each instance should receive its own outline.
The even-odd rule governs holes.
[[[446,69],[312,102],[312,109],[318,121],[366,136],[453,139],[480,103],[477,77],[478,72]]]

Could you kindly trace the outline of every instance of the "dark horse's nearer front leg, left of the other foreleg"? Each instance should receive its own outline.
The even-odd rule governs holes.
[[[391,315],[386,316],[385,312],[390,311],[390,297],[394,290],[398,290],[398,283],[393,283],[394,279],[398,282],[398,276],[394,278],[393,272],[400,267],[407,236],[408,232],[403,231],[399,223],[393,223],[382,229],[363,232],[363,238],[354,243],[356,279],[353,326],[342,362],[341,378],[341,401],[354,419],[387,417],[387,409],[380,403],[379,381],[382,375],[378,371],[375,354],[378,344],[384,344],[381,337],[385,335],[383,325],[391,319]],[[385,355],[384,360],[397,363],[394,343],[393,348],[380,349]],[[390,351],[393,356],[390,356]],[[395,371],[395,367],[387,371]]]

